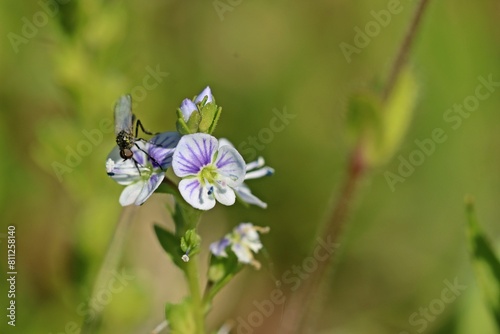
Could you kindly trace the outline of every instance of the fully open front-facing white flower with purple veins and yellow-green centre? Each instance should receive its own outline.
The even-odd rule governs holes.
[[[191,206],[210,210],[218,201],[233,205],[234,188],[243,183],[245,161],[232,146],[219,148],[217,139],[204,133],[185,135],[175,150],[172,168],[178,177],[179,191]]]

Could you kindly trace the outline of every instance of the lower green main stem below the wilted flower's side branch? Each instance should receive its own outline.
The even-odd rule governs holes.
[[[198,256],[193,256],[186,263],[186,278],[191,292],[193,317],[196,324],[196,333],[205,334],[205,311],[200,289],[200,273],[198,272]]]

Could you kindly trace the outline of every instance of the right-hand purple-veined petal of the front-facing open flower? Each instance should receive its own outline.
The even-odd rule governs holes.
[[[230,187],[237,187],[245,178],[246,164],[241,154],[232,146],[225,145],[219,149],[215,161],[217,172],[224,177]]]

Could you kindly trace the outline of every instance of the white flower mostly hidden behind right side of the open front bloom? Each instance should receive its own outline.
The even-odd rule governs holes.
[[[219,139],[219,148],[225,145],[234,147],[229,140],[225,138]],[[245,180],[258,179],[274,174],[273,168],[265,166],[263,157],[259,157],[257,160],[246,164],[245,169]],[[245,183],[242,183],[238,187],[234,188],[234,191],[236,192],[236,196],[238,196],[241,201],[247,204],[257,205],[263,209],[267,208],[267,203],[261,201],[257,196],[253,195],[252,191]]]

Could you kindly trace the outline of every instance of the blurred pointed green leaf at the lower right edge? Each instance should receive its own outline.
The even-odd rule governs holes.
[[[472,199],[466,201],[466,212],[469,252],[474,272],[500,330],[500,261],[477,221]]]

